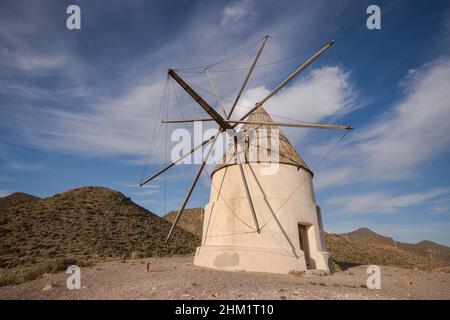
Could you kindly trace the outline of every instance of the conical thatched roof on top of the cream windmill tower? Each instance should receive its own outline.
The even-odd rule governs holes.
[[[269,122],[274,121],[270,115],[264,110],[264,108],[259,108],[253,112],[245,121],[249,122]],[[242,163],[270,163],[274,162],[273,157],[277,157],[274,153],[276,147],[272,147],[270,144],[270,137],[275,134],[275,130],[278,130],[279,134],[279,146],[278,146],[278,162],[280,164],[293,165],[299,168],[303,168],[313,174],[308,165],[303,161],[300,155],[297,153],[295,148],[289,142],[288,138],[283,134],[283,132],[278,128],[278,126],[272,125],[256,125],[256,124],[244,124],[241,128],[241,132],[245,132],[246,141],[241,143],[241,148],[239,149],[239,155]],[[249,139],[249,132],[255,130],[257,132],[258,138]],[[265,140],[265,141],[264,141]],[[251,152],[249,152],[251,151]],[[255,154],[257,154],[255,158]],[[213,170],[215,171],[222,169],[224,167],[236,164],[235,159],[235,146],[233,143],[228,145],[228,148],[222,157],[221,161]]]

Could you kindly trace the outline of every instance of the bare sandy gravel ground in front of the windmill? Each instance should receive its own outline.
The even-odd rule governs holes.
[[[107,262],[0,288],[0,299],[450,299],[450,274],[381,267],[381,289],[366,287],[367,266],[334,275],[276,275],[196,267],[193,257]],[[147,262],[149,270],[147,271]]]

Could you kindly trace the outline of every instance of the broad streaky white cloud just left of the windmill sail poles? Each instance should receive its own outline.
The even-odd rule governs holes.
[[[116,100],[103,100],[85,111],[43,108],[32,118],[27,113],[16,117],[21,117],[27,139],[45,149],[142,157],[148,150],[151,129],[162,126],[152,108],[161,91],[155,83],[137,87]],[[161,148],[162,142],[156,142],[156,148]]]

